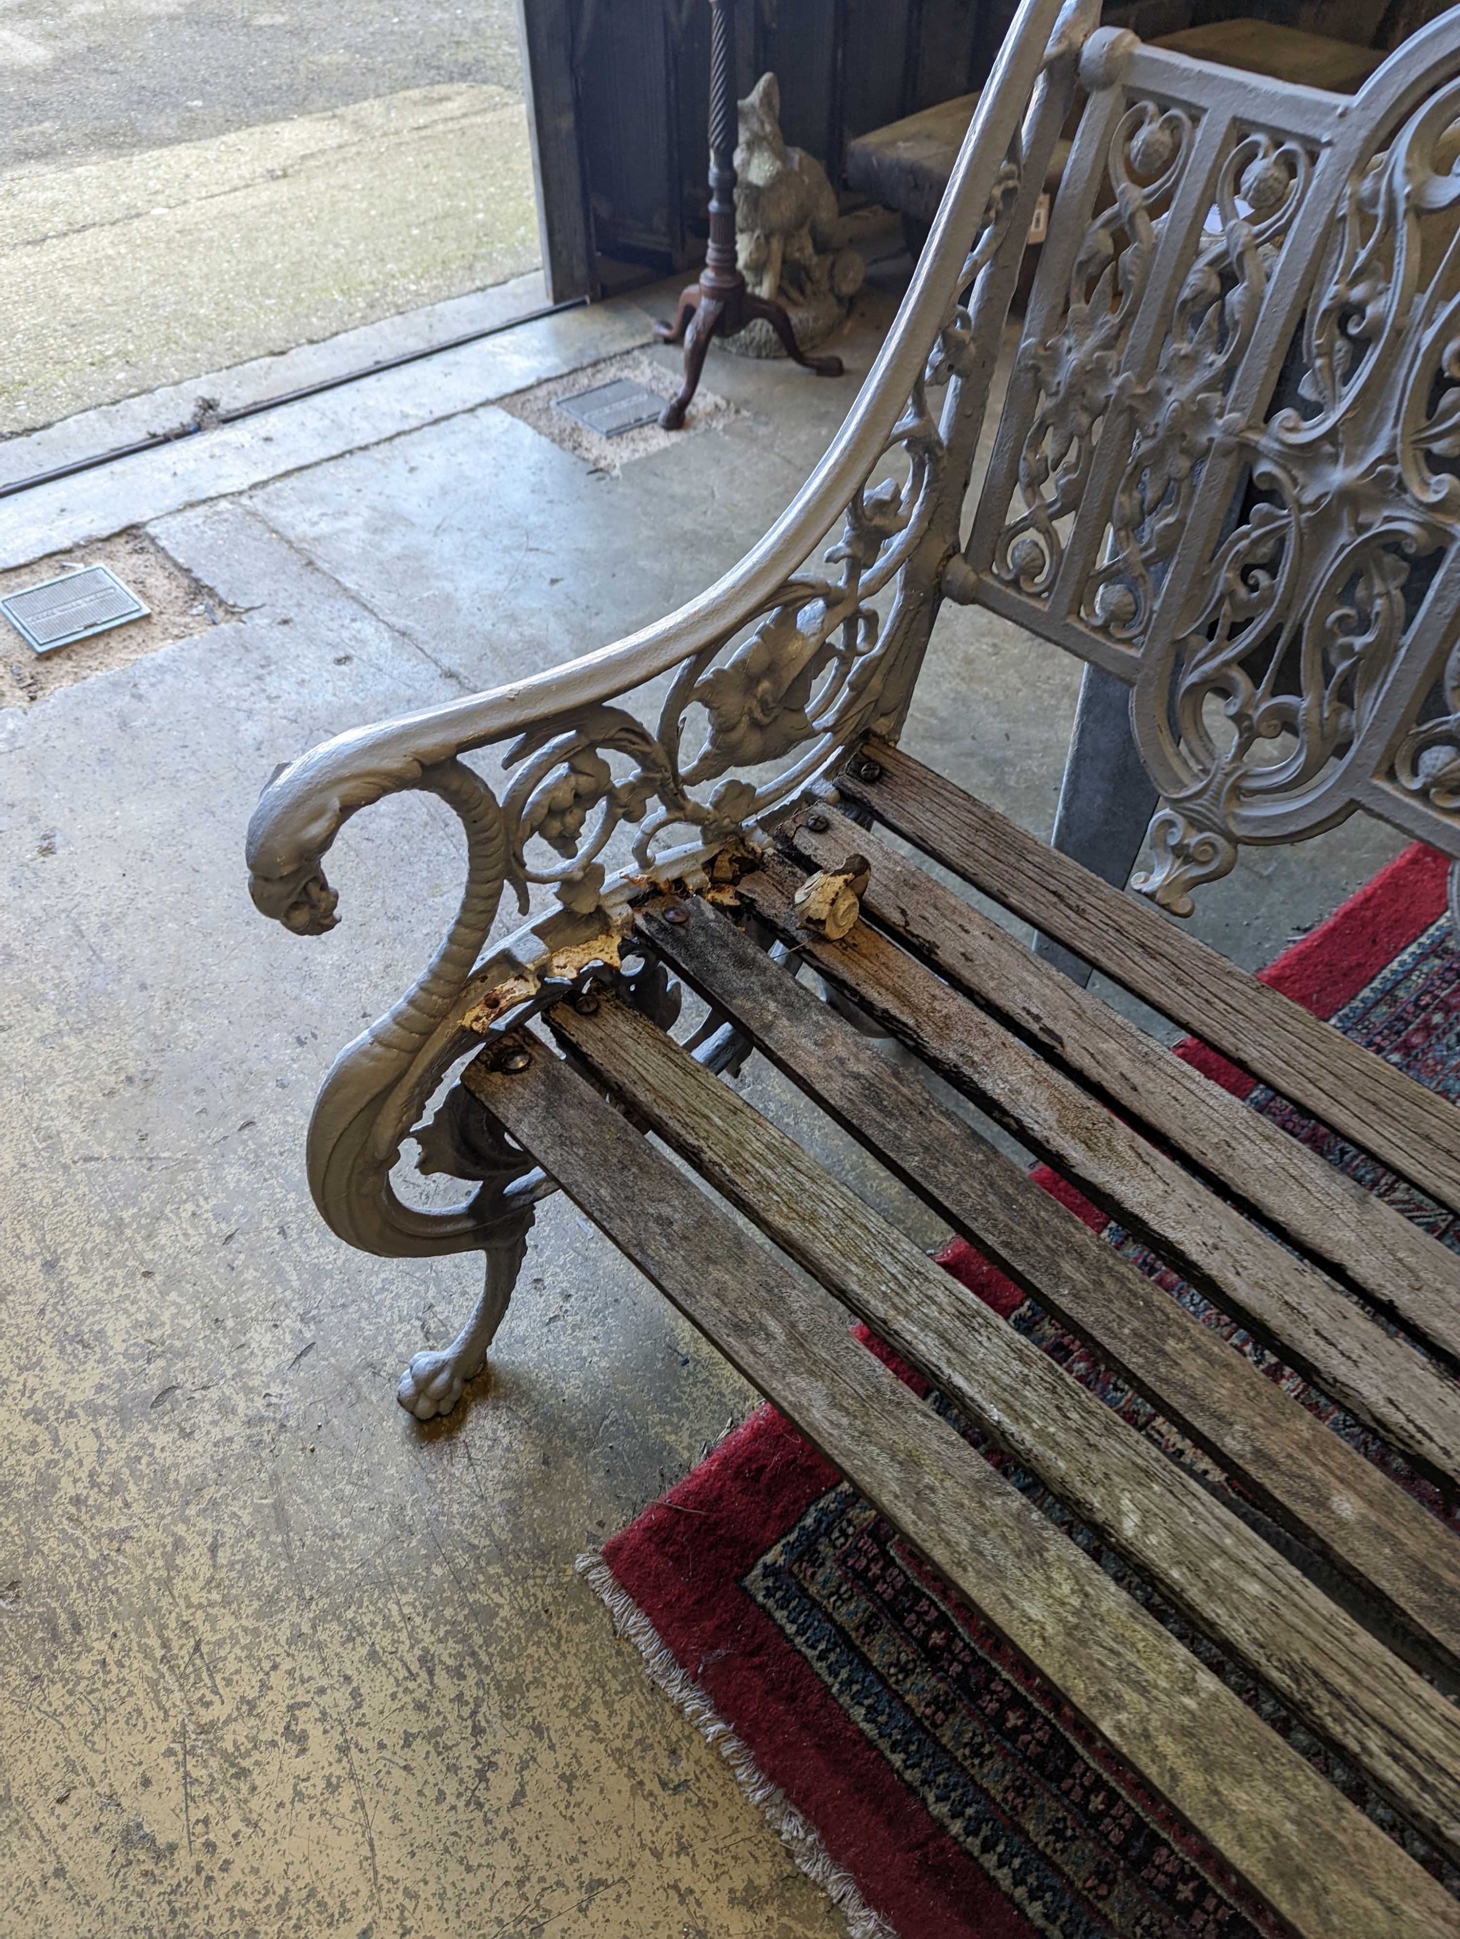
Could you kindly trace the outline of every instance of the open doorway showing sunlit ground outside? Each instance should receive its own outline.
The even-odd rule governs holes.
[[[512,281],[527,310],[537,264],[512,0],[0,16],[0,436]]]

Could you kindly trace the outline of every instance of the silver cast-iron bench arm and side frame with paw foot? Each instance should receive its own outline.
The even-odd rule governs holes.
[[[551,987],[562,995],[566,985],[551,985],[562,944],[578,958],[601,944],[613,968],[611,863],[651,871],[671,847],[715,849],[774,814],[863,733],[896,729],[938,576],[958,547],[1022,237],[1095,12],[1094,0],[1063,10],[1059,0],[1026,0],[1024,31],[1000,56],[1004,85],[985,93],[913,297],[826,458],[735,572],[587,659],[341,735],[264,791],[248,834],[250,890],[264,913],[306,935],[335,923],[322,857],[359,809],[425,789],[467,832],[467,888],[448,940],[411,993],[341,1053],[308,1146],[314,1200],[349,1243],[386,1255],[487,1255],[487,1289],[463,1334],[444,1355],[417,1355],[401,1381],[403,1404],[423,1417],[454,1404],[485,1353],[531,1196],[549,1189],[520,1171],[491,1127],[461,1115],[456,1092],[421,1127],[450,1068],[481,1041],[463,1012],[492,985],[533,1001]],[[617,702],[663,673],[673,679],[650,727]],[[502,743],[512,779],[498,805],[461,756]],[[514,938],[516,971],[500,950],[483,962],[506,886],[524,913],[533,888],[551,894],[549,909]],[[714,1055],[743,1049],[727,1041]],[[477,1179],[461,1204],[413,1206],[396,1191],[399,1148],[413,1130],[427,1169]]]

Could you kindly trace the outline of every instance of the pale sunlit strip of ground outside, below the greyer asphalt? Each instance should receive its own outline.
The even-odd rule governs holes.
[[[537,262],[527,114],[496,85],[0,173],[0,436]]]

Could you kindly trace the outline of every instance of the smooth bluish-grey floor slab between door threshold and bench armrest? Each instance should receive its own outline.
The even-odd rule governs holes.
[[[489,405],[248,502],[475,690],[673,611],[735,564],[768,496],[793,496],[805,469],[729,417],[613,475]]]

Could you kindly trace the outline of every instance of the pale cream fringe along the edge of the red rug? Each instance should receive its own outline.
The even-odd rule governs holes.
[[[655,1683],[669,1702],[712,1743],[731,1766],[735,1782],[746,1799],[764,1815],[795,1863],[816,1885],[841,1918],[847,1922],[847,1939],[898,1939],[880,1912],[874,1912],[857,1891],[851,1873],[838,1865],[820,1840],[820,1834],[785,1797],[779,1784],[772,1784],[760,1770],[750,1747],[731,1730],[715,1710],[694,1677],[675,1662],[669,1644],[640,1609],[634,1598],[615,1580],[603,1555],[593,1549],[578,1557],[578,1574],[593,1594],[607,1605],[613,1627],[644,1658],[650,1681]]]

